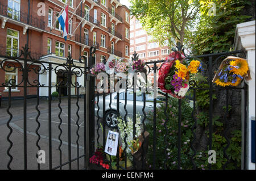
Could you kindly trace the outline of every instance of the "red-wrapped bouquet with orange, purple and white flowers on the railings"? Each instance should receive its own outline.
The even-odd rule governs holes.
[[[186,62],[184,60],[183,52],[172,52],[166,57],[166,62],[159,70],[159,89],[178,99],[183,99],[189,89],[190,74],[196,74],[203,70],[200,61]]]

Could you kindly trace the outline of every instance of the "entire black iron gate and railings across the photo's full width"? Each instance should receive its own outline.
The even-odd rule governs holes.
[[[90,157],[92,157],[95,154],[96,149],[98,146],[102,146],[103,148],[106,145],[106,133],[108,133],[108,130],[114,130],[118,132],[118,128],[114,127],[108,127],[106,125],[106,118],[109,116],[110,123],[113,121],[116,121],[115,116],[122,116],[122,119],[125,121],[127,125],[128,117],[131,117],[131,120],[133,120],[133,136],[135,137],[136,128],[136,114],[138,111],[142,111],[142,121],[141,121],[141,128],[142,128],[142,137],[145,140],[148,125],[148,117],[150,117],[149,113],[146,112],[147,107],[151,107],[151,120],[149,120],[149,123],[152,127],[152,132],[150,134],[152,145],[146,145],[142,143],[142,151],[141,156],[139,159],[135,159],[133,163],[129,166],[127,162],[129,162],[129,158],[126,153],[126,150],[129,148],[128,143],[126,142],[126,138],[124,139],[124,145],[123,150],[117,149],[117,155],[119,155],[119,151],[123,151],[124,157],[122,158],[123,163],[121,164],[121,160],[119,156],[115,157],[115,160],[113,160],[113,157],[106,157],[104,159],[104,162],[109,164],[109,169],[169,169],[169,163],[170,159],[172,160],[172,163],[175,165],[176,169],[181,169],[183,167],[183,157],[184,153],[182,151],[184,144],[182,140],[181,134],[183,133],[183,112],[182,111],[182,104],[183,102],[186,102],[188,99],[185,100],[177,100],[176,105],[170,105],[168,104],[168,100],[170,100],[170,96],[168,94],[165,94],[163,92],[159,92],[159,94],[162,94],[164,97],[163,100],[161,100],[161,103],[164,104],[163,113],[165,116],[165,120],[162,123],[164,130],[159,130],[159,115],[157,115],[158,111],[158,103],[159,100],[154,98],[151,100],[151,106],[147,105],[146,102],[146,94],[141,94],[141,96],[137,96],[137,89],[134,86],[134,82],[136,80],[136,77],[133,77],[133,80],[131,81],[130,87],[128,87],[126,83],[125,92],[114,92],[114,93],[108,93],[107,92],[97,92],[96,90],[96,81],[95,77],[88,76],[87,71],[89,70],[90,66],[95,64],[95,59],[93,57],[93,53],[95,53],[95,48],[90,49],[90,56],[89,56],[89,64],[87,65],[87,62],[85,61],[85,57],[81,56],[80,59],[77,62],[74,62],[72,60],[72,57],[67,57],[67,62],[64,64],[58,64],[56,62],[48,62],[48,61],[39,61],[31,57],[30,52],[28,51],[28,48],[25,47],[23,50],[19,53],[20,56],[18,57],[9,57],[9,56],[0,56],[2,58],[2,61],[0,61],[0,73],[16,73],[16,77],[8,77],[5,76],[5,82],[0,83],[0,87],[5,87],[5,92],[7,94],[7,102],[6,102],[6,112],[2,114],[8,114],[9,118],[6,120],[7,128],[9,129],[9,132],[7,133],[7,144],[5,145],[6,148],[6,159],[7,159],[7,169],[12,169],[15,165],[12,163],[15,160],[23,160],[23,169],[30,169],[30,166],[36,163],[37,169],[42,169],[42,165],[40,163],[36,162],[36,159],[40,157],[41,155],[37,154],[38,150],[43,150],[42,148],[47,148],[44,151],[46,151],[46,157],[47,157],[47,165],[48,167],[45,167],[43,165],[43,169],[101,169],[101,166],[98,166],[97,164],[89,163]],[[203,56],[197,56],[199,60],[201,58],[204,58],[206,61],[205,66],[205,72],[207,73],[208,77],[208,87],[201,87],[200,85],[197,85],[196,82],[190,82],[190,92],[191,97],[190,100],[192,101],[192,115],[191,119],[193,120],[193,125],[191,127],[191,132],[193,134],[193,140],[191,140],[190,149],[192,154],[187,155],[187,159],[191,162],[190,169],[198,169],[196,166],[196,127],[198,125],[198,121],[196,118],[196,92],[198,90],[207,90],[209,91],[209,110],[208,110],[208,119],[209,123],[207,125],[208,127],[208,135],[204,135],[207,139],[207,145],[208,150],[212,150],[213,148],[213,96],[214,91],[216,90],[222,90],[225,91],[225,109],[224,109],[224,115],[228,115],[229,113],[229,94],[233,91],[241,91],[241,94],[244,96],[244,104],[246,106],[246,87],[227,87],[227,88],[220,88],[213,86],[212,78],[213,78],[213,71],[215,68],[213,68],[214,64],[221,60],[221,58],[231,55],[231,54],[238,54],[243,53],[242,51],[236,51],[236,52],[225,52],[225,53],[216,53],[216,54],[207,54]],[[137,54],[134,54],[134,58],[137,58]],[[186,57],[187,59],[192,57]],[[162,64],[164,60],[161,61],[154,61],[154,62],[146,62],[147,66],[147,76],[150,73],[157,73],[160,69],[160,64]],[[75,64],[80,64],[80,66],[77,66]],[[52,80],[52,73],[55,73],[56,75],[61,75],[61,77],[66,77],[67,81],[65,83],[63,81],[54,83],[55,80]],[[43,74],[47,74],[47,83],[44,85],[43,82],[40,80],[40,76]],[[33,75],[33,76],[32,76]],[[35,77],[36,75],[36,77]],[[40,76],[39,76],[40,75]],[[75,77],[75,81],[72,81],[72,77]],[[77,78],[83,78],[82,82],[77,81]],[[156,79],[156,77],[154,77]],[[146,78],[147,79],[147,78]],[[57,80],[57,79],[56,79]],[[1,79],[2,81],[2,79]],[[87,86],[86,86],[87,85]],[[86,89],[87,87],[87,89]],[[63,96],[63,92],[61,92],[63,89],[67,89],[68,96]],[[28,104],[28,98],[30,98],[29,92],[31,89],[34,89],[36,91],[36,105],[34,106],[34,110],[36,110],[36,113],[31,113],[31,108]],[[56,89],[59,90],[59,95],[57,98],[59,99],[57,101],[52,100],[52,90]],[[80,94],[82,89],[86,89],[86,95],[84,96]],[[127,89],[130,89],[130,92],[127,91]],[[13,92],[15,91],[23,91],[23,109],[22,114],[19,112],[19,116],[15,117],[15,110],[12,111],[12,108],[16,105],[13,104],[14,100],[13,98]],[[40,92],[44,91],[47,92],[48,99],[43,101],[40,99]],[[75,95],[72,95],[72,91],[75,92]],[[3,95],[4,96],[4,95]],[[86,99],[89,98],[89,99]],[[108,100],[106,100],[108,99]],[[137,99],[141,99],[140,102],[138,102]],[[132,102],[130,104],[130,101]],[[19,103],[20,104],[20,103]],[[46,105],[44,107],[44,110],[40,110],[40,106]],[[141,110],[139,109],[140,105]],[[4,104],[2,103],[2,106]],[[52,106],[53,105],[53,106]],[[168,120],[171,119],[169,117],[169,113],[167,112],[170,110],[171,106],[175,106],[177,108],[177,142],[176,142],[176,148],[177,153],[175,154],[175,158],[171,158],[170,154],[168,153],[168,149],[170,146],[170,142],[168,141],[168,136],[171,135],[170,130],[167,128]],[[124,110],[121,112],[121,110]],[[172,108],[171,108],[172,109]],[[1,110],[2,111],[2,110]],[[20,111],[20,110],[19,110]],[[64,111],[67,111],[65,113],[64,117]],[[243,114],[246,116],[246,107],[243,111]],[[102,116],[100,116],[100,114]],[[110,115],[112,114],[112,115]],[[23,117],[20,117],[20,115],[23,115]],[[28,115],[32,115],[32,117],[28,117]],[[56,116],[54,116],[56,115]],[[43,127],[43,122],[40,120],[42,116],[45,116],[46,118],[46,127]],[[35,120],[33,123],[28,122],[31,118]],[[19,119],[18,119],[19,118]],[[15,125],[13,124],[13,121],[15,120],[22,120],[22,125]],[[65,122],[67,121],[67,122]],[[72,122],[74,124],[72,124]],[[146,123],[147,122],[147,123]],[[244,133],[246,130],[246,117],[242,119],[241,121],[244,124],[242,132]],[[14,122],[15,123],[15,122]],[[30,125],[35,124],[35,127],[30,127]],[[83,124],[83,126],[82,126]],[[64,125],[66,125],[67,130],[64,130]],[[22,127],[22,129],[20,128]],[[28,130],[27,128],[30,128]],[[22,140],[19,140],[23,143],[23,146],[18,148],[21,153],[19,156],[14,155],[12,153],[12,149],[14,149],[14,141],[12,140],[12,136],[14,134],[14,128],[23,134]],[[82,129],[81,129],[82,128]],[[37,137],[35,142],[28,141],[28,136],[32,134],[32,129],[34,129],[35,136]],[[47,136],[42,136],[40,131],[42,129],[46,129]],[[225,137],[226,146],[223,151],[223,157],[226,158],[226,163],[222,165],[222,169],[225,169],[226,166],[228,166],[230,161],[230,155],[228,155],[227,150],[229,149],[230,142],[232,140],[230,139],[229,135],[229,118],[228,116],[224,116],[224,132],[223,136]],[[159,133],[164,132],[163,135],[163,141],[164,145],[162,145],[162,149],[164,150],[164,159],[162,160],[162,167],[158,167],[159,165],[158,161],[158,152],[159,148],[157,148],[158,144],[158,138]],[[102,132],[102,133],[101,133]],[[73,135],[75,133],[75,135]],[[53,135],[54,134],[54,135]],[[55,138],[56,136],[56,138]],[[243,142],[246,142],[245,140],[242,140]],[[30,139],[31,140],[31,139]],[[46,142],[42,142],[43,140],[47,140]],[[54,144],[52,142],[54,141]],[[18,142],[18,144],[20,143]],[[56,144],[57,142],[57,144]],[[119,142],[120,144],[121,142]],[[28,158],[28,153],[31,154],[31,148],[28,147],[28,144],[35,145],[36,149],[32,151],[32,155],[34,158],[32,158],[34,161],[32,162],[30,158]],[[47,146],[43,146],[43,144],[46,144]],[[144,144],[144,145],[143,145]],[[245,144],[244,144],[245,145]],[[65,148],[67,146],[67,148]],[[53,149],[54,148],[54,149]],[[2,145],[1,145],[2,149]],[[161,148],[160,148],[161,149]],[[56,152],[57,150],[57,152]],[[54,152],[54,153],[53,153]],[[243,153],[246,153],[246,150],[244,148]],[[53,155],[54,154],[54,155]],[[147,155],[150,154],[151,157],[147,157]],[[23,159],[20,158],[20,155],[22,155]],[[65,160],[64,157],[67,157]],[[245,156],[243,157],[245,159]],[[149,162],[152,164],[149,165]],[[3,162],[4,163],[4,162]],[[54,165],[53,165],[54,163]],[[114,164],[113,164],[114,163]],[[245,163],[245,162],[243,162]],[[88,167],[89,165],[89,167]],[[98,167],[94,167],[94,166]],[[212,169],[212,164],[209,164],[207,169]],[[238,168],[239,169],[239,168]]]

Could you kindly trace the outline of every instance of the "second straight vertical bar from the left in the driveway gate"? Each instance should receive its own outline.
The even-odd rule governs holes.
[[[49,134],[49,169],[52,169],[52,64],[49,64],[48,77],[48,134]]]

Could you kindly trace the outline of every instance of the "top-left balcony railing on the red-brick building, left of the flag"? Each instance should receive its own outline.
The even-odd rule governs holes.
[[[26,13],[14,10],[8,6],[2,5],[0,3],[0,15],[6,16],[7,18],[14,19],[18,22],[29,24],[30,26],[45,29],[44,21],[42,19],[35,18],[32,15],[27,15]]]

